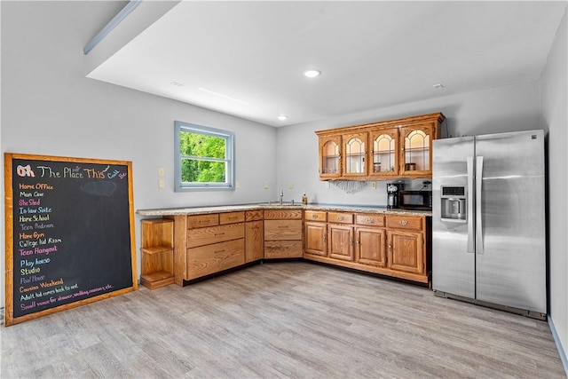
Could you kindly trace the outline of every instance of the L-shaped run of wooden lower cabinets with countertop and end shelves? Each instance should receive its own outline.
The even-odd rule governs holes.
[[[148,288],[279,258],[430,285],[430,211],[275,202],[137,213],[153,217],[141,221]]]

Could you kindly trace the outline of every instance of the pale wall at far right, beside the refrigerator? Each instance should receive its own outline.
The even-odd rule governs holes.
[[[548,203],[551,205],[548,208],[549,314],[563,345],[564,355],[568,355],[567,36],[564,12],[541,77],[542,128],[548,130]]]

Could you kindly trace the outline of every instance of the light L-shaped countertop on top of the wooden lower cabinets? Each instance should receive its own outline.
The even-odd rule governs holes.
[[[407,209],[387,209],[381,206],[367,205],[341,205],[341,204],[294,204],[287,202],[280,205],[279,202],[261,202],[254,204],[240,205],[218,205],[214,207],[190,207],[190,208],[166,208],[166,209],[138,209],[136,213],[141,216],[175,216],[175,215],[198,215],[217,212],[236,212],[254,209],[309,209],[309,210],[331,210],[359,213],[383,213],[386,215],[403,216],[426,216],[431,217],[430,210],[407,210]]]

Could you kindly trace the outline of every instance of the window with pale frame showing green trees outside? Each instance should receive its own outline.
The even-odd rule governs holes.
[[[176,192],[234,189],[234,133],[174,122]]]

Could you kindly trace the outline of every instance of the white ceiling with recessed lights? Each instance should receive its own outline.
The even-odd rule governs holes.
[[[183,1],[88,76],[282,126],[538,80],[565,8]]]

